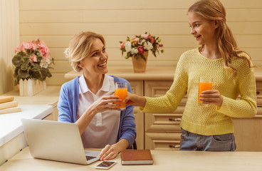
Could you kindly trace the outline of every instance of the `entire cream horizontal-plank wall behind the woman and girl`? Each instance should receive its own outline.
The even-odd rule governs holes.
[[[187,9],[194,1],[20,0],[20,38],[41,38],[48,44],[56,63],[50,85],[65,82],[63,74],[72,70],[63,51],[78,31],[95,31],[105,36],[108,66],[131,66],[132,61],[121,55],[119,41],[148,31],[160,36],[165,52],[157,58],[150,54],[147,65],[175,66],[184,51],[198,46],[187,21]],[[256,66],[262,66],[262,1],[221,1],[239,48],[251,55]]]

